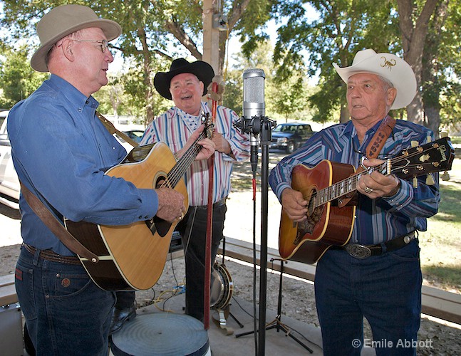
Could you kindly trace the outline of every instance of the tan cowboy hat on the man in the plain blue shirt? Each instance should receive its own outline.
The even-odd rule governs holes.
[[[51,9],[37,23],[41,46],[36,53],[33,53],[32,68],[38,72],[48,72],[45,58],[50,48],[68,34],[90,27],[103,30],[108,41],[112,41],[122,33],[122,28],[118,23],[99,19],[95,11],[88,6],[68,4]]]

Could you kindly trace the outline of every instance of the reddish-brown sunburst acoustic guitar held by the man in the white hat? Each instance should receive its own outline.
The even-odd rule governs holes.
[[[296,165],[291,188],[308,201],[307,220],[297,223],[281,211],[279,253],[286,260],[316,263],[331,246],[344,246],[351,239],[356,206],[351,197],[363,174],[382,174],[408,179],[451,169],[455,150],[450,139],[418,145],[401,151],[378,166],[356,171],[350,164],[326,159],[315,167]],[[349,201],[345,204],[345,201]]]

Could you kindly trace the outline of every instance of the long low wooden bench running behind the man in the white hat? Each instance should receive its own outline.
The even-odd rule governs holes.
[[[225,256],[253,263],[252,244],[245,241],[226,238],[225,249]],[[222,252],[222,247],[220,247],[219,253]],[[267,249],[267,267],[280,271],[280,263],[271,263],[271,258],[279,259],[279,251],[274,248]],[[259,253],[257,254],[257,264],[258,266],[260,265]],[[303,278],[308,281],[314,281],[316,266],[289,261],[289,263],[284,266],[284,273]],[[424,314],[447,320],[452,323],[461,324],[461,294],[423,286],[421,296],[422,310]]]

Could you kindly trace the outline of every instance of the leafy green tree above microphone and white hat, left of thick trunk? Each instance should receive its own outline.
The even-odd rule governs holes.
[[[318,19],[308,21],[309,7],[315,9]],[[341,117],[348,120],[345,85],[333,69],[350,66],[353,56],[364,48],[388,51],[395,47],[398,36],[395,18],[387,1],[278,1],[276,13],[285,17],[286,23],[278,29],[274,61],[279,80],[286,80],[295,71],[302,70],[303,54],[309,53],[307,75],[319,76],[318,91],[309,102],[316,108],[316,121],[331,120],[337,108]],[[388,26],[383,26],[387,23]]]

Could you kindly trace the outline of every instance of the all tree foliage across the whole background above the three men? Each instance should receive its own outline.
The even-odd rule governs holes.
[[[0,1],[4,6],[0,26],[8,28],[8,36],[0,44],[25,43],[30,52],[24,56],[30,56],[38,46],[36,21],[49,9],[66,3]],[[74,3],[90,6],[123,27],[123,35],[111,46],[129,65],[120,78],[111,80],[117,88],[106,88],[98,96],[102,105],[115,112],[137,112],[145,122],[170,106],[171,102],[155,92],[153,76],[168,70],[172,58],[202,59],[202,1]],[[264,66],[268,112],[278,117],[314,115],[320,122],[348,120],[345,85],[332,63],[350,66],[357,51],[373,48],[402,56],[415,70],[420,95],[408,108],[409,120],[432,130],[437,130],[440,122],[461,121],[459,0],[223,0],[214,4],[221,6],[217,10],[228,20],[228,31],[219,32],[222,73],[229,34],[243,43],[240,66],[229,70],[224,95],[224,104],[237,112],[242,106],[242,71]],[[264,43],[274,23],[278,31],[272,61],[261,60],[262,52],[265,56],[272,53]],[[264,50],[258,51],[261,48]],[[21,51],[25,52],[24,48]],[[29,78],[24,72],[16,75]],[[316,90],[309,88],[309,78],[318,78]],[[120,88],[126,97],[115,95]],[[13,91],[17,95],[17,88]],[[126,103],[118,103],[116,97]],[[399,110],[395,115],[405,117],[406,112]]]

